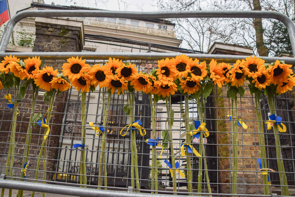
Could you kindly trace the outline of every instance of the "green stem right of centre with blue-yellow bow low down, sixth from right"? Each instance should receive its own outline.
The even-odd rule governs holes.
[[[168,102],[169,101],[169,102]],[[171,161],[172,161],[172,185],[173,185],[173,191],[176,192],[176,171],[175,171],[175,156],[174,156],[174,149],[173,149],[173,136],[172,136],[172,118],[171,112],[172,112],[172,106],[171,106],[171,96],[166,98],[166,109],[167,109],[167,117],[168,117],[168,126],[169,126],[169,144],[171,149]],[[174,193],[174,195],[177,195]]]

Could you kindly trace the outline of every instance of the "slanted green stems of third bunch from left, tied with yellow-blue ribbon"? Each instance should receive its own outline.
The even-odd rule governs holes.
[[[49,123],[49,121],[51,119],[51,112],[52,112],[53,101],[55,100],[55,95],[56,95],[56,91],[50,97],[50,101],[49,101],[49,105],[48,105],[47,124]],[[42,120],[43,120],[43,117],[42,117]],[[46,134],[47,129],[48,128],[45,128],[44,135]],[[42,136],[42,144],[41,144],[40,152],[38,154],[37,165],[36,165],[36,172],[35,172],[35,179],[38,179],[38,172],[39,172],[39,167],[40,167],[40,162],[41,162],[41,157],[42,157],[42,151],[43,151],[43,148],[45,147],[45,144],[47,144],[47,139],[48,139],[48,137],[46,138],[46,140],[44,140],[44,137]],[[46,152],[46,149],[44,149],[44,151]],[[44,155],[45,154],[46,153],[44,153]],[[46,163],[46,159],[47,158],[44,158],[43,167],[44,167],[44,165]],[[43,180],[44,181],[46,180],[46,171],[43,172]],[[37,181],[34,181],[34,182],[37,182]],[[33,191],[32,192],[32,197],[34,197],[34,195],[35,195],[35,192]]]

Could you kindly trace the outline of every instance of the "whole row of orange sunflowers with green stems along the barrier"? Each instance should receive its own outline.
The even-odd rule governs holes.
[[[173,179],[173,190],[176,191],[176,175],[175,175],[175,159],[173,153],[173,144],[172,144],[172,125],[173,125],[173,110],[171,108],[171,95],[175,94],[177,90],[181,92],[185,96],[185,109],[188,109],[188,100],[193,100],[197,103],[199,109],[199,117],[200,120],[203,119],[203,110],[204,103],[206,98],[211,93],[214,85],[217,85],[220,89],[222,86],[227,85],[227,97],[232,101],[232,111],[231,115],[235,117],[237,115],[237,94],[243,96],[244,94],[244,83],[248,80],[248,87],[250,89],[251,94],[254,94],[255,97],[255,107],[257,112],[257,119],[262,122],[261,112],[258,107],[258,102],[261,94],[261,90],[264,90],[264,93],[267,95],[269,99],[270,111],[275,114],[275,105],[274,105],[274,97],[287,92],[288,90],[292,90],[293,86],[295,86],[295,77],[293,75],[293,71],[291,70],[292,65],[285,64],[282,61],[275,61],[271,64],[266,64],[264,60],[257,57],[247,57],[245,60],[237,60],[233,65],[228,63],[217,63],[216,60],[212,60],[209,64],[205,61],[200,62],[198,59],[192,59],[187,57],[186,55],[178,55],[175,58],[166,58],[158,61],[158,68],[151,71],[149,74],[145,72],[138,72],[137,68],[134,64],[131,63],[123,63],[122,60],[109,58],[109,61],[104,65],[95,64],[90,66],[86,63],[86,59],[82,59],[82,57],[71,57],[67,59],[67,63],[64,63],[62,66],[62,73],[58,73],[57,70],[54,70],[51,66],[42,67],[42,61],[39,57],[27,58],[24,61],[20,60],[15,56],[7,56],[4,57],[4,60],[0,64],[0,88],[10,89],[15,86],[15,101],[14,105],[14,114],[13,114],[13,122],[16,121],[17,116],[17,103],[21,101],[21,98],[24,96],[27,87],[31,84],[33,87],[33,105],[30,117],[30,125],[27,132],[27,140],[26,140],[26,149],[24,153],[24,159],[22,165],[27,163],[27,157],[29,152],[29,144],[31,137],[31,123],[37,120],[41,120],[41,123],[46,125],[51,116],[52,103],[56,98],[56,95],[69,89],[74,86],[78,91],[82,92],[82,143],[85,141],[86,137],[86,93],[88,91],[94,91],[97,86],[102,88],[106,92],[108,92],[108,101],[105,102],[104,94],[103,94],[103,103],[107,103],[106,109],[103,107],[103,126],[106,126],[106,120],[108,115],[108,104],[110,103],[110,95],[114,94],[117,91],[117,94],[124,94],[125,91],[128,91],[129,94],[129,115],[130,115],[130,123],[134,121],[134,91],[142,91],[143,93],[149,94],[150,96],[150,104],[152,108],[152,136],[153,140],[155,139],[155,106],[159,99],[165,100],[167,104],[167,116],[168,116],[168,125],[169,125],[169,135],[167,135],[166,142],[169,142],[171,146],[171,154],[172,154],[172,179]],[[23,80],[23,82],[21,82]],[[44,95],[44,99],[49,101],[48,105],[48,115],[47,120],[45,120],[45,115],[34,115],[34,108],[36,99],[38,96],[38,90],[44,89],[46,94]],[[126,93],[126,92],[125,92]],[[11,99],[12,100],[12,99]],[[45,121],[44,121],[44,120]],[[238,124],[234,124],[232,121],[232,135],[233,135],[233,144],[237,144],[237,126]],[[134,122],[133,122],[134,123]],[[13,123],[15,124],[15,123]],[[203,123],[204,124],[204,123]],[[202,125],[203,125],[202,124]],[[259,123],[260,124],[260,123]],[[261,123],[262,124],[262,123]],[[259,128],[259,140],[262,145],[260,150],[260,155],[262,159],[266,159],[265,147],[264,144],[264,136],[263,136],[263,126]],[[43,126],[42,126],[43,127]],[[45,126],[44,126],[45,127]],[[185,128],[189,131],[189,117],[188,111],[185,113]],[[203,126],[204,127],[204,126]],[[46,131],[49,127],[46,127]],[[198,129],[198,128],[196,128]],[[277,126],[274,124],[274,133],[278,134]],[[15,133],[15,125],[12,125],[12,132]],[[46,131],[44,135],[46,134]],[[201,132],[200,135],[200,155],[204,156],[203,152],[203,144],[202,137],[203,132],[206,132],[205,129],[199,129]],[[135,142],[135,133],[134,131],[131,135],[131,139]],[[105,132],[102,132],[102,139],[106,139]],[[186,144],[191,144],[192,136],[189,136],[189,132],[186,132]],[[133,136],[134,135],[134,136]],[[207,135],[204,135],[207,137]],[[14,155],[14,137],[11,136],[10,147],[8,155]],[[40,159],[42,156],[42,148],[44,148],[44,154],[46,149],[46,138],[42,141],[42,146],[39,152],[38,164],[40,163]],[[279,172],[284,172],[284,165],[281,160],[282,156],[279,151],[279,137],[276,137],[276,148],[277,150],[277,158],[278,158],[278,167]],[[134,179],[136,180],[136,186],[139,188],[139,178],[138,178],[138,169],[137,169],[137,150],[136,144],[131,143],[133,162],[132,166],[132,186],[134,187]],[[189,153],[188,147],[186,147],[186,156],[187,156],[187,177],[188,177],[188,189],[189,192],[192,192],[191,182],[191,164],[190,157],[192,154]],[[81,149],[81,166],[80,166],[80,183],[87,184],[86,179],[86,157],[85,151],[83,148]],[[101,151],[105,151],[105,141],[102,142]],[[155,147],[152,148],[152,190],[157,190],[157,174],[156,168],[153,164],[156,162],[155,156]],[[236,171],[235,166],[237,165],[237,146],[234,146],[233,150],[234,160],[233,170]],[[44,162],[46,161],[44,155]],[[5,174],[8,172],[9,163],[13,164],[14,156],[11,156],[7,159],[7,168]],[[207,169],[206,158],[203,158],[204,168]],[[199,157],[199,163],[202,164],[202,157]],[[106,167],[105,167],[105,155],[101,154],[100,158],[100,166],[99,166],[99,183],[98,186],[101,186],[101,175],[102,175],[102,164],[104,165],[104,173],[106,175]],[[44,165],[46,166],[46,165]],[[263,168],[266,168],[266,162],[263,162]],[[11,168],[12,169],[12,168]],[[44,168],[44,173],[46,173],[46,168]],[[135,178],[134,178],[135,172]],[[207,172],[207,170],[206,170]],[[12,170],[10,172],[10,176],[12,176]],[[281,185],[287,186],[285,179],[285,173],[280,173],[281,176]],[[23,177],[23,175],[22,175]],[[36,169],[35,178],[38,177],[38,169]],[[46,177],[46,176],[43,176]],[[268,189],[266,187],[267,177],[263,176],[264,180],[264,191],[265,194],[268,195]],[[206,173],[206,179],[208,181],[208,190],[210,190],[208,173]],[[199,176],[198,182],[202,182],[202,165],[199,165]],[[236,172],[233,173],[233,191],[232,193],[236,193]],[[105,186],[106,180],[105,180]],[[198,190],[200,192],[201,184],[198,184]],[[288,187],[282,187],[282,193],[284,195],[288,195]],[[3,190],[2,190],[3,192]],[[211,193],[211,191],[209,191]],[[20,191],[22,195],[22,191]]]

